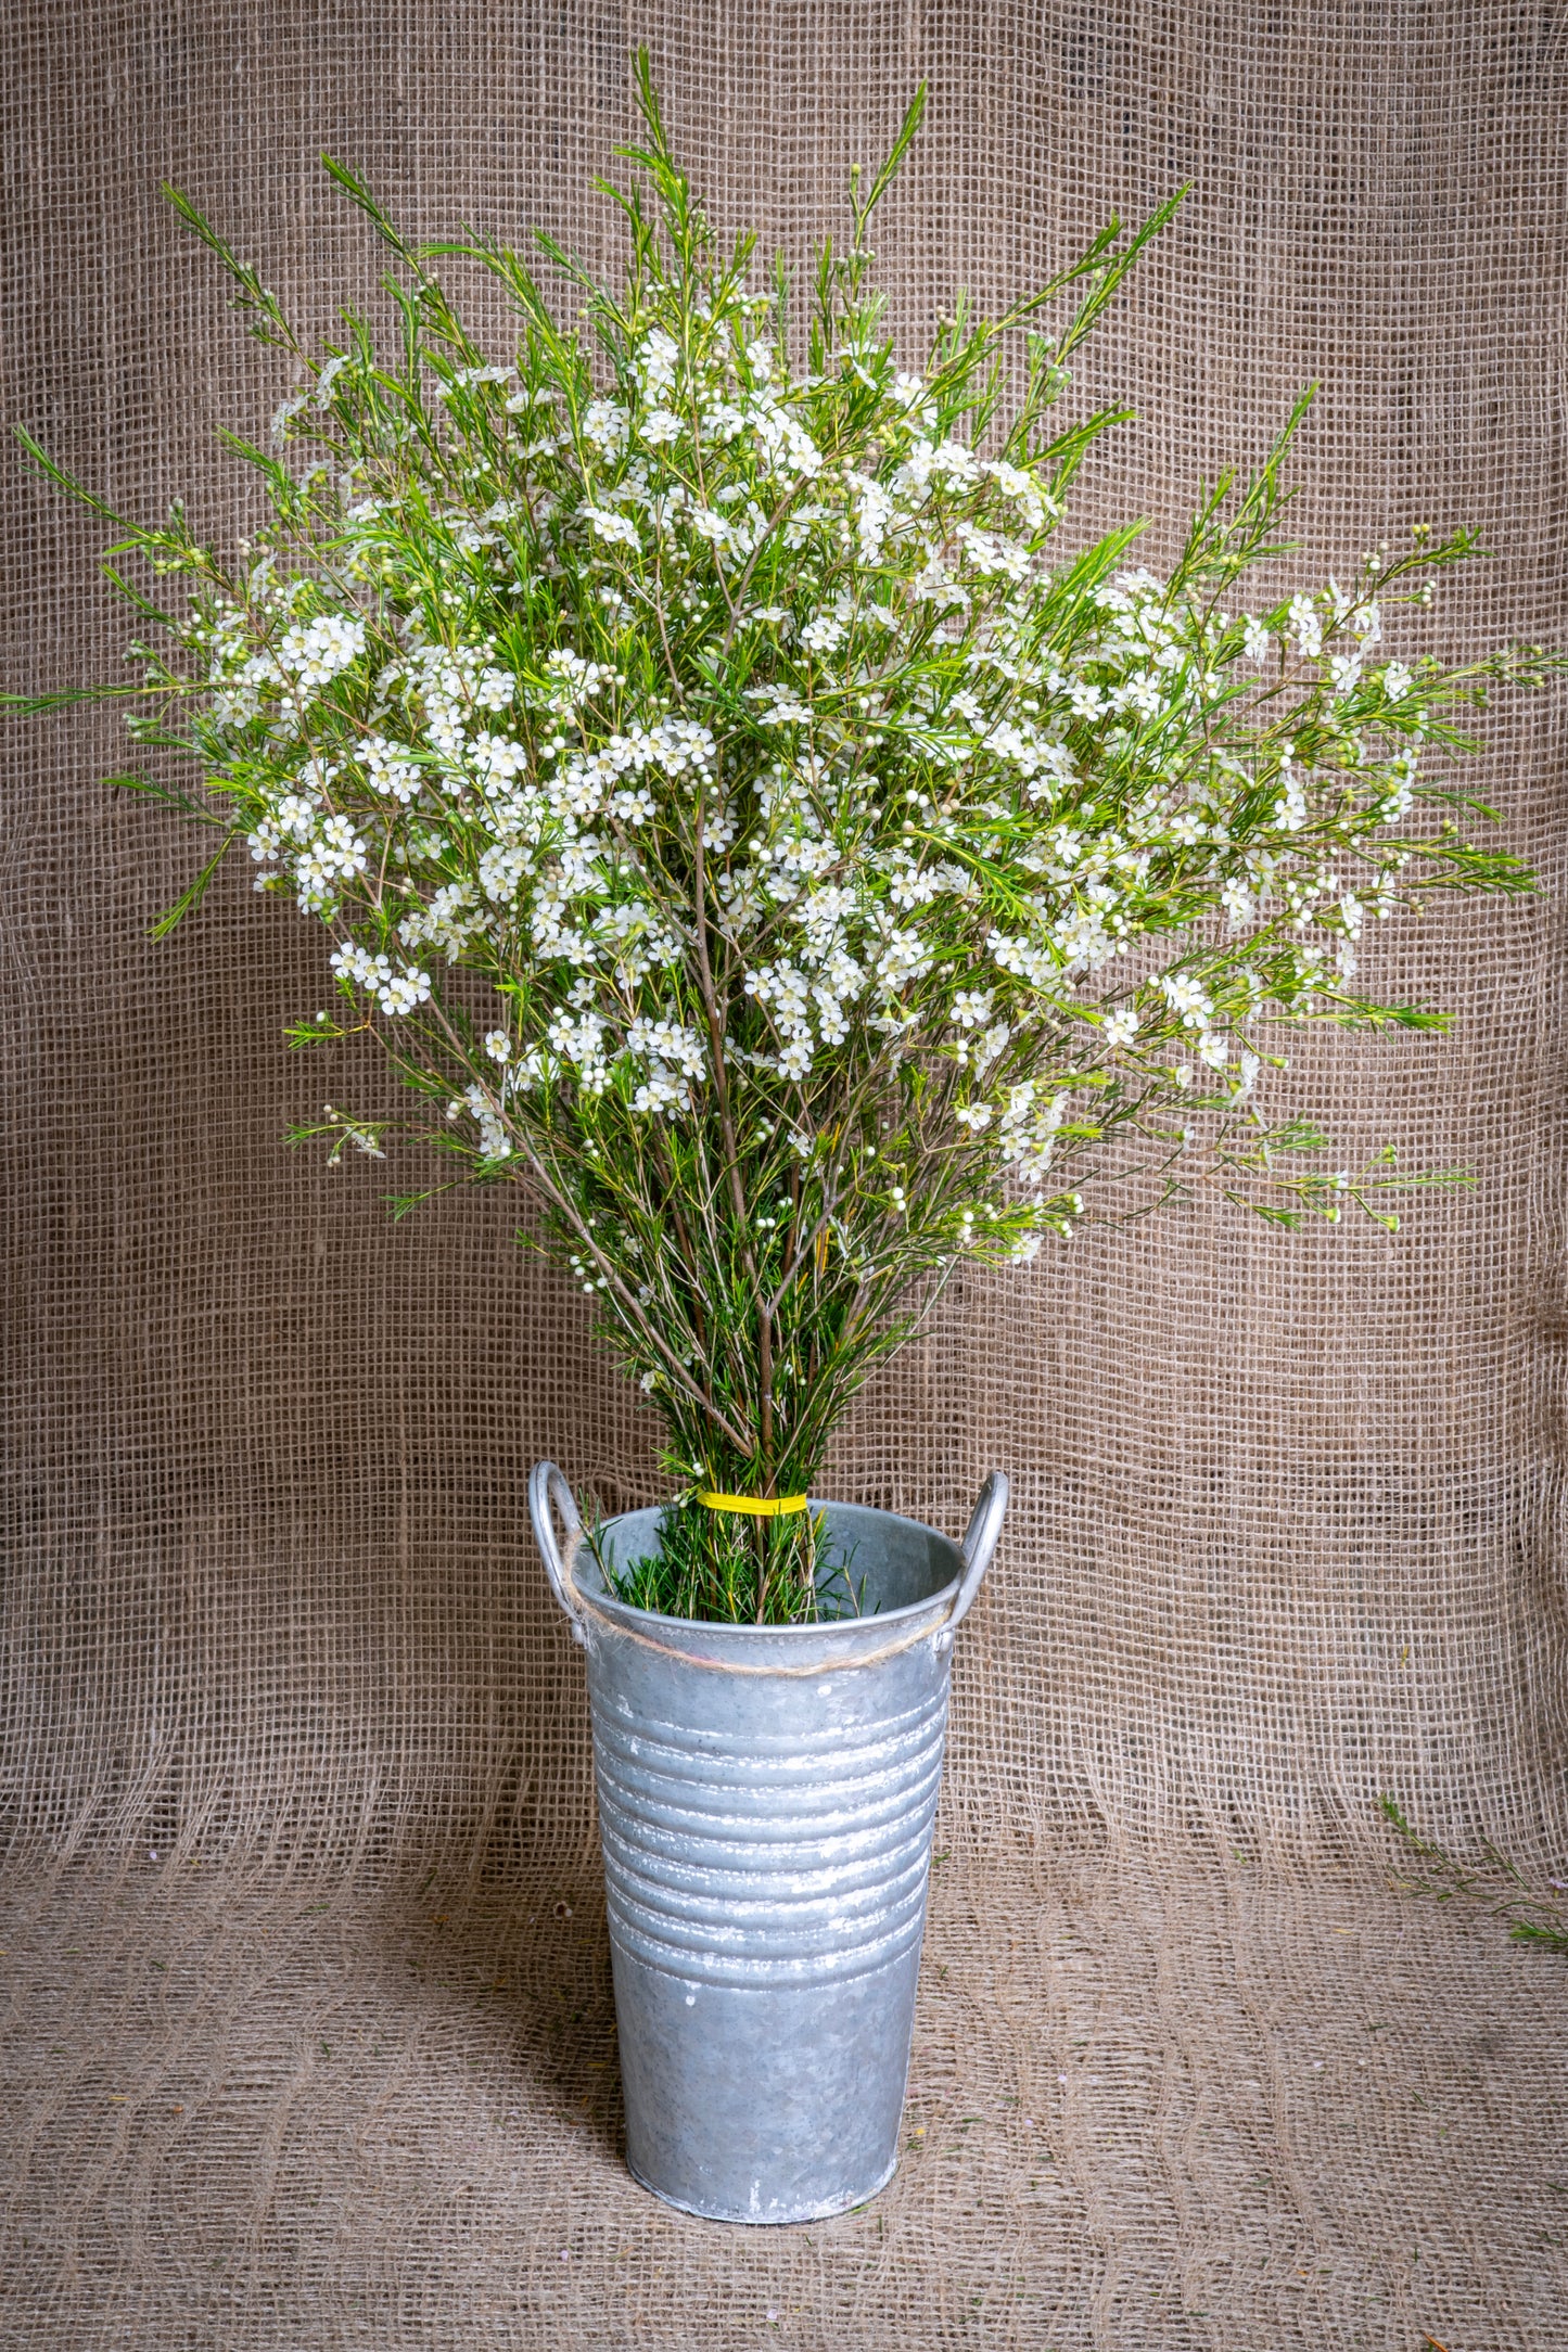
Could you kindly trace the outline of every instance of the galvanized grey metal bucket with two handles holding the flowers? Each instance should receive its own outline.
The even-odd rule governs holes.
[[[588,1651],[628,2166],[686,2213],[818,2220],[893,2176],[952,1637],[1006,1496],[994,1470],[961,1545],[813,1503],[863,1613],[708,1625],[614,1599],[564,1477],[534,1470]],[[658,1512],[599,1541],[616,1569],[644,1559]]]

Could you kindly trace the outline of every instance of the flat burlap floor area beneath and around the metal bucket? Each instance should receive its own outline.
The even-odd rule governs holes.
[[[12,1889],[0,2345],[1563,2340],[1561,1957],[1342,1875],[954,1853],[898,2178],[726,2230],[621,2166],[595,1879]]]

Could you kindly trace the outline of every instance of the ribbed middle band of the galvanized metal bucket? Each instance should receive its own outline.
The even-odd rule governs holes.
[[[597,1696],[592,1729],[611,1936],[639,1959],[825,1985],[919,1945],[945,1675],[853,1729],[693,1733],[621,1693]]]

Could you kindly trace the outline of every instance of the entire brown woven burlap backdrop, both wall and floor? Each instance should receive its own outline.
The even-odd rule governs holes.
[[[1302,555],[1497,555],[1425,642],[1559,640],[1556,0],[14,0],[7,419],[110,501],[244,524],[214,426],[287,374],[158,195],[296,315],[371,299],[327,148],[425,235],[614,261],[590,174],[649,40],[712,212],[799,261],[922,78],[879,230],[914,350],[1112,207],[1192,195],[1079,369],[1140,423],[1084,529],[1171,553],[1288,395]],[[496,329],[501,322],[496,320]],[[7,461],[7,684],[115,675],[99,532]],[[1403,623],[1401,623],[1403,626]],[[1476,779],[1563,875],[1563,696]],[[106,795],[113,720],[5,743],[0,2345],[1559,2347],[1568,1978],[1396,1896],[1375,1799],[1568,1856],[1561,896],[1375,941],[1448,1042],[1307,1042],[1347,1162],[1476,1169],[1399,1240],[1197,1200],[954,1282],[830,1486],[1016,1508],[959,1642],[907,2152],[804,2232],[623,2173],[581,1665],[527,1536],[649,1425],[505,1202],[390,1228],[280,1136],[371,1065],[282,1044],[324,943]]]

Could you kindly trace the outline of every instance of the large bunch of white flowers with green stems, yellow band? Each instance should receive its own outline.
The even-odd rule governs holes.
[[[1380,656],[1389,600],[1425,602],[1465,532],[1241,609],[1309,395],[1164,576],[1131,567],[1135,524],[1067,539],[1119,416],[1051,412],[1173,205],[997,320],[959,306],[905,372],[867,223],[919,101],[797,315],[750,238],[719,249],[646,64],[639,99],[623,287],[541,240],[578,327],[515,252],[414,249],[329,165],[395,256],[397,336],[350,318],[317,358],[174,195],[294,358],[275,437],[308,461],[230,440],[270,503],[235,557],[179,510],[120,524],[188,609],[127,588],[165,649],[101,691],[146,694],[132,727],[202,769],[197,795],[120,781],[223,833],[165,920],[247,844],[256,889],[331,934],[339,1011],[294,1042],[386,1044],[404,1131],[522,1188],[663,1414],[679,1496],[628,1597],[792,1621],[827,1435],[954,1263],[1023,1265],[1093,1174],[1143,1207],[1185,1164],[1279,1223],[1394,1228],[1392,1155],[1309,1171],[1291,1155],[1326,1138],[1255,1082],[1305,1021],[1441,1025],[1356,990],[1356,938],[1530,884],[1422,757],[1547,659]],[[442,254],[515,303],[503,358]],[[306,1134],[378,1155],[390,1127]]]

